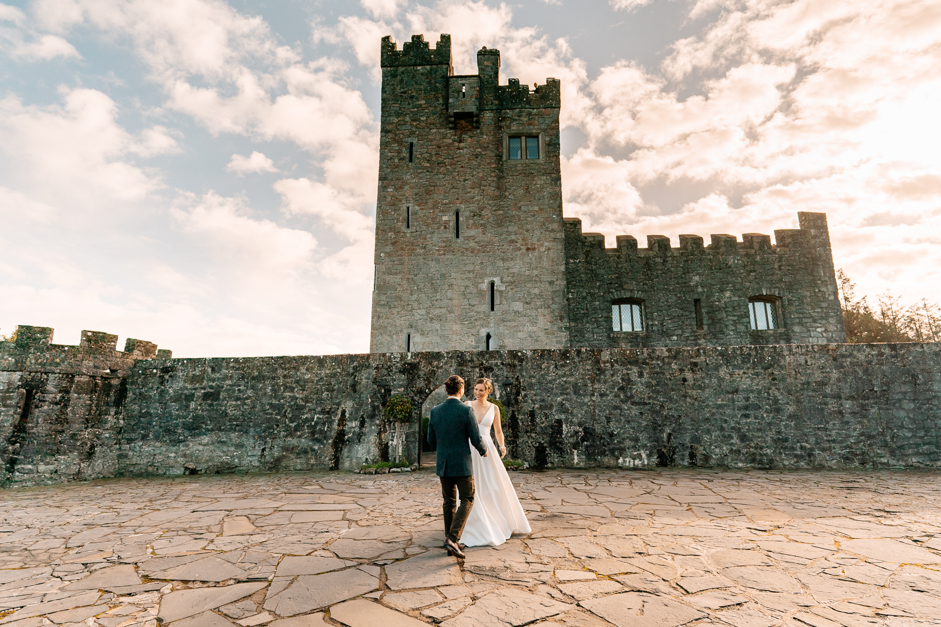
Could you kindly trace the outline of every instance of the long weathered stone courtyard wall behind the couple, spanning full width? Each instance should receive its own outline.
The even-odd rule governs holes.
[[[8,482],[26,485],[414,461],[419,408],[455,372],[495,382],[510,455],[533,465],[941,466],[937,344],[143,359],[2,342],[0,365]],[[382,415],[392,394],[411,420]]]

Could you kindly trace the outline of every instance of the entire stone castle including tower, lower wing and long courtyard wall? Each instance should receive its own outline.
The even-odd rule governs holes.
[[[559,82],[500,86],[500,53],[477,59],[455,76],[447,35],[382,41],[371,353],[174,359],[20,325],[0,484],[414,461],[455,373],[494,382],[537,467],[941,467],[941,345],[841,343],[822,213],[774,245],[605,248],[562,216]]]

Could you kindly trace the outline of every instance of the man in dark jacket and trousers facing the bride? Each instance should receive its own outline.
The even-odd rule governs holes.
[[[470,444],[486,457],[480,440],[480,429],[470,407],[461,402],[464,380],[456,374],[444,382],[448,399],[431,410],[428,421],[428,446],[438,448],[438,470],[441,495],[444,497],[444,548],[455,556],[464,557],[464,548],[457,540],[464,532],[473,507],[473,470],[470,465]],[[457,495],[461,507],[457,508]]]

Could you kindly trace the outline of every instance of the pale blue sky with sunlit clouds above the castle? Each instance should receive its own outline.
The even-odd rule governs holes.
[[[0,4],[0,334],[368,351],[379,39],[442,32],[562,80],[609,245],[827,212],[857,290],[941,300],[937,0],[35,0]]]

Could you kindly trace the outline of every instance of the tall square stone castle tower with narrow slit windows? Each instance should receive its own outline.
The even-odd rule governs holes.
[[[382,39],[371,351],[569,346],[559,81],[455,75],[451,36]]]

